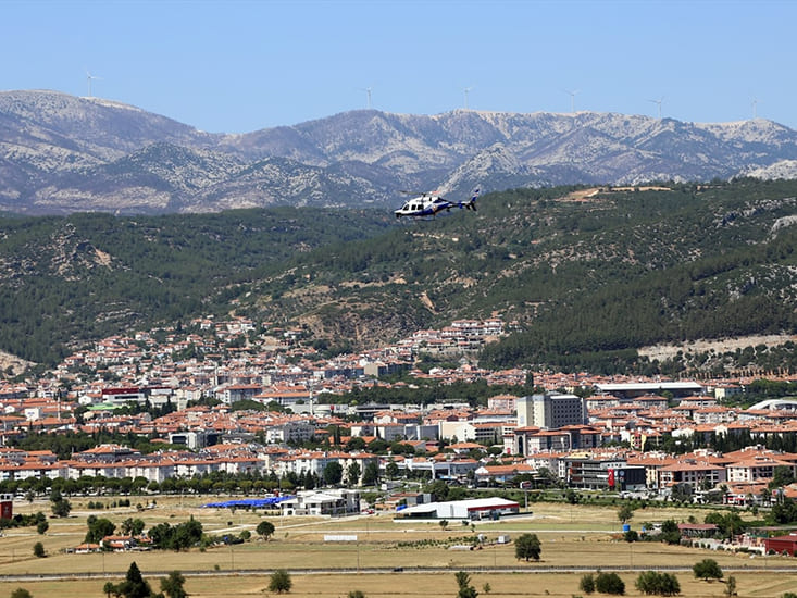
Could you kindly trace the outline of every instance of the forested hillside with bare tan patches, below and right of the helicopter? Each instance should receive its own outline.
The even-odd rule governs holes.
[[[794,332],[796,196],[756,180],[494,194],[475,215],[303,256],[252,303],[356,346],[497,310],[522,332],[487,364],[624,369],[648,344]]]

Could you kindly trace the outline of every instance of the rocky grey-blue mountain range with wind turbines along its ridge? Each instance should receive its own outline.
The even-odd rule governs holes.
[[[797,132],[762,119],[358,110],[219,134],[99,98],[0,92],[0,210],[32,215],[387,209],[400,189],[783,178],[796,164]]]

